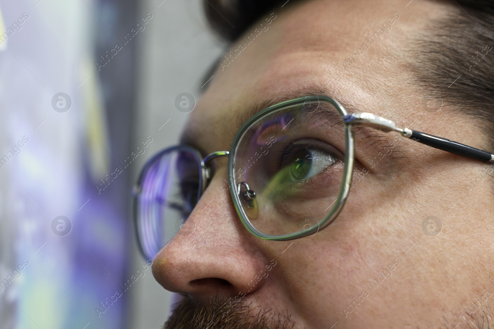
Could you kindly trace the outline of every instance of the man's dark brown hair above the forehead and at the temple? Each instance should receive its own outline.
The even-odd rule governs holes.
[[[286,2],[206,0],[204,4],[213,30],[234,41],[268,10]],[[447,107],[445,110],[477,120],[494,149],[494,1],[452,3],[456,10],[448,18],[431,23],[425,28],[430,33],[411,44],[413,83],[426,97]]]

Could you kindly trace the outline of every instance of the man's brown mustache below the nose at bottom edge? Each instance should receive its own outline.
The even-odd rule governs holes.
[[[215,296],[202,301],[184,296],[163,329],[294,329],[289,316],[245,302]]]

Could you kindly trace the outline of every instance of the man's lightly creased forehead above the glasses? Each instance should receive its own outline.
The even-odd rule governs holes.
[[[315,90],[410,124],[406,111],[422,99],[406,69],[407,45],[442,9],[415,2],[301,1],[271,10],[223,57],[182,141],[204,152],[226,148],[246,113]]]

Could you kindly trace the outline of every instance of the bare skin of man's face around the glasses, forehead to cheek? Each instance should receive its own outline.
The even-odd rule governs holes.
[[[407,3],[302,1],[272,9],[233,43],[236,56],[214,73],[183,141],[203,155],[229,150],[253,108],[319,89],[350,111],[488,148],[466,116],[424,106],[427,95],[407,62],[411,40],[459,9]],[[255,29],[262,32],[248,39]],[[226,160],[214,160],[215,174],[191,214],[195,231],[176,235],[156,256],[156,279],[206,304],[232,298],[273,319],[289,317],[296,328],[478,327],[474,319],[494,303],[494,198],[485,164],[394,133],[363,135],[356,134],[355,159],[369,173],[354,174],[331,225],[292,241],[264,241],[246,230],[225,189]]]

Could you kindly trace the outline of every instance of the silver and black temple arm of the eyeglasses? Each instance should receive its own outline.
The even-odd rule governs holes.
[[[443,151],[447,151],[450,153],[458,154],[476,160],[494,162],[494,154],[492,154],[491,152],[483,151],[475,147],[453,142],[446,138],[421,133],[416,130],[410,130],[408,128],[404,128],[404,129],[397,128],[396,124],[393,121],[374,115],[372,113],[366,113],[366,112],[350,113],[345,115],[343,120],[347,124],[358,123],[379,129],[384,132],[396,131],[399,132],[404,137],[411,138],[414,141],[420,142],[428,146],[432,146],[434,148],[442,149]]]

